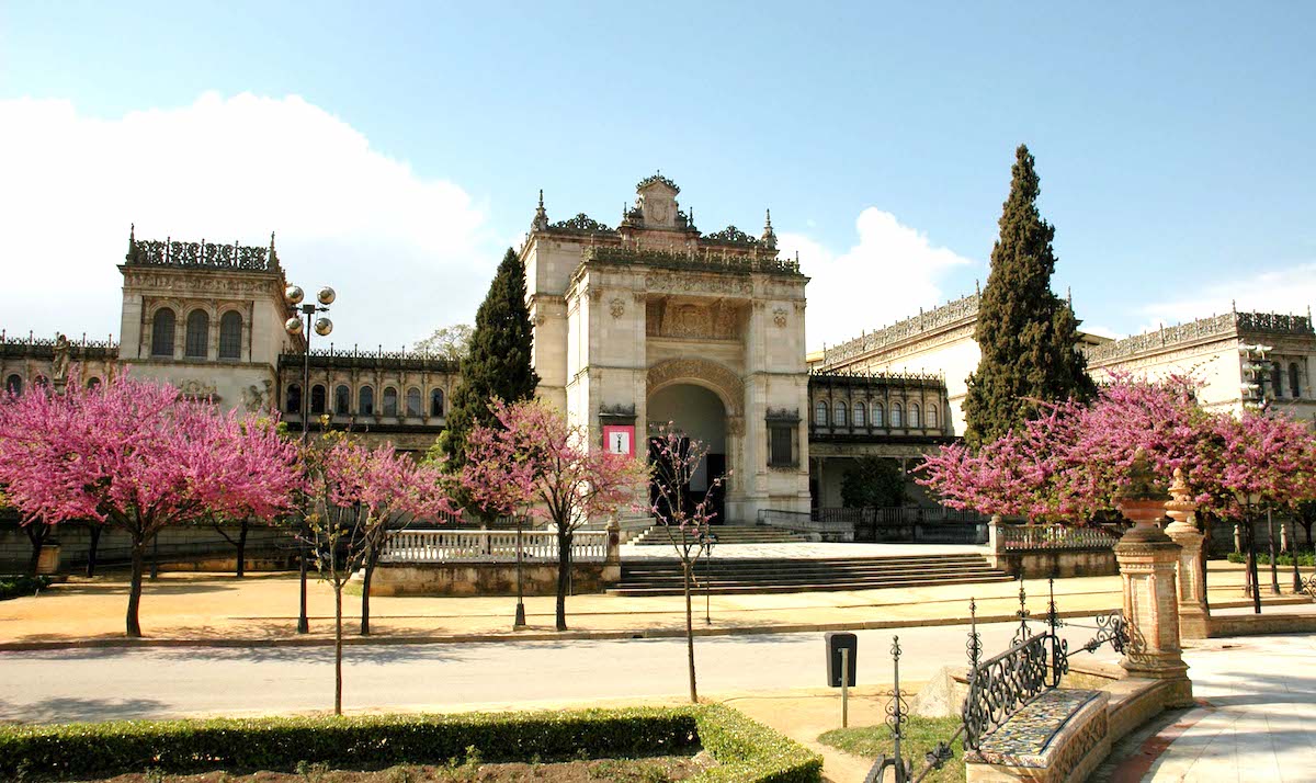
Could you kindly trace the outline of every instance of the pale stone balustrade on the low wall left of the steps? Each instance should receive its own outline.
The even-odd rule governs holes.
[[[516,530],[400,530],[379,558],[382,563],[515,563]],[[605,530],[576,530],[571,559],[601,563],[608,555]],[[521,557],[526,563],[555,563],[558,536],[551,530],[524,530]]]

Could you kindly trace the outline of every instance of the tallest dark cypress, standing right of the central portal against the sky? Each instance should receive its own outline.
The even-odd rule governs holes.
[[[1015,153],[1000,237],[978,308],[974,337],[982,349],[969,376],[965,440],[978,446],[1036,415],[1037,401],[1087,399],[1096,387],[1075,349],[1078,320],[1051,293],[1055,228],[1037,212],[1041,186],[1025,145]]]

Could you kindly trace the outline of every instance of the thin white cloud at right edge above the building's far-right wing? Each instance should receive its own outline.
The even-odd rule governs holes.
[[[1162,324],[1182,324],[1213,313],[1240,311],[1305,315],[1316,303],[1316,262],[1266,271],[1248,278],[1221,280],[1198,287],[1187,296],[1169,297],[1144,305],[1141,330]]]

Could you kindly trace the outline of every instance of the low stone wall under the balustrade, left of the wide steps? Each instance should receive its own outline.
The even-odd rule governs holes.
[[[557,563],[526,563],[522,574],[525,595],[557,594]],[[621,579],[621,566],[574,563],[571,574],[572,592],[603,592]],[[370,595],[516,595],[516,565],[380,563],[371,576]]]

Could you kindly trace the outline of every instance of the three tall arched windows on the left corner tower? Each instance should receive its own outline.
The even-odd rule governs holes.
[[[142,355],[190,362],[238,362],[249,353],[245,303],[159,300],[146,308]]]

